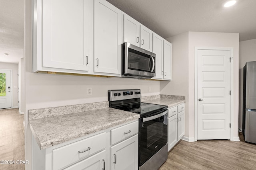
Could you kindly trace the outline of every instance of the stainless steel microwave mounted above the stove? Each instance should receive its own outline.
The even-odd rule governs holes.
[[[156,54],[130,43],[122,44],[122,77],[151,78],[156,76]]]

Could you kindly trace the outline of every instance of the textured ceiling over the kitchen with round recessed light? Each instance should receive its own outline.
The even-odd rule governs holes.
[[[256,39],[256,0],[107,0],[164,38],[186,31],[239,33]]]

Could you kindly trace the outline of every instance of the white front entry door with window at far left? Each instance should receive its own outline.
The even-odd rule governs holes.
[[[0,109],[11,107],[11,71],[0,70]]]

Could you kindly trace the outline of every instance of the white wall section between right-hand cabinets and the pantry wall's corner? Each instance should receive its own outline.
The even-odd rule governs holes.
[[[188,32],[166,39],[172,42],[172,81],[160,82],[160,94],[188,98]],[[188,102],[185,103],[188,108]],[[185,136],[188,137],[188,109],[185,109]]]

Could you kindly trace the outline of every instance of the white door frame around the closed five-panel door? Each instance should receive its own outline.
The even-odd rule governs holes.
[[[234,141],[234,62],[233,62],[233,48],[232,47],[195,47],[195,98],[194,98],[194,138],[195,141],[197,141],[197,102],[198,102],[198,96],[197,96],[197,51],[198,50],[227,50],[230,51],[230,141]]]

